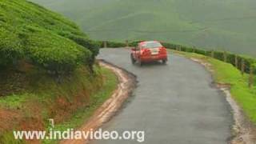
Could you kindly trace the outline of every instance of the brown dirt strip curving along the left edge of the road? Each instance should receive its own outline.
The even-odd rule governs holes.
[[[95,111],[94,115],[78,130],[97,130],[103,123],[109,121],[110,118],[121,108],[126,99],[129,98],[136,86],[136,77],[134,74],[130,74],[126,70],[122,70],[121,68],[118,68],[118,66],[114,66],[108,62],[101,61],[100,65],[112,70],[114,74],[118,76],[118,88],[117,90],[114,90],[112,96],[106,100],[106,102],[104,102],[102,106]],[[88,142],[90,142],[90,139],[66,140],[60,143],[85,144]]]

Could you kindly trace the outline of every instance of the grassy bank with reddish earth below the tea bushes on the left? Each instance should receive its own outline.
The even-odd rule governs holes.
[[[49,118],[54,118],[55,130],[81,126],[118,84],[112,71],[99,66],[94,66],[94,71],[90,74],[86,67],[81,67],[58,81],[34,68],[22,74],[11,74],[18,77],[0,86],[11,87],[18,82],[22,86],[14,87],[22,90],[9,94],[10,90],[8,95],[0,97],[0,143],[26,143],[15,141],[12,131],[48,130]]]

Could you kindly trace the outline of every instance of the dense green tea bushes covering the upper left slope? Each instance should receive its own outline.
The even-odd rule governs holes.
[[[0,7],[0,66],[25,60],[54,74],[92,67],[98,43],[73,22],[26,0],[2,0]]]

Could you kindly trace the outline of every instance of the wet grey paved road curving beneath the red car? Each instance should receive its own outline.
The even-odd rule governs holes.
[[[189,59],[170,54],[168,64],[133,66],[130,50],[103,49],[103,58],[138,76],[134,97],[103,130],[145,130],[147,144],[224,144],[233,123],[222,92],[210,74]],[[94,141],[98,144],[137,141]]]

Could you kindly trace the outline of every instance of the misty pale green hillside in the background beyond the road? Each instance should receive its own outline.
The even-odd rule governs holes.
[[[256,56],[254,0],[33,0],[92,38],[158,39]]]

